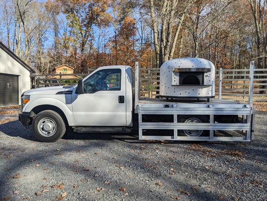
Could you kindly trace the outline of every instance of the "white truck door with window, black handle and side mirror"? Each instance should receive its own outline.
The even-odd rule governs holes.
[[[125,69],[100,69],[84,80],[84,93],[73,93],[78,126],[126,126]]]

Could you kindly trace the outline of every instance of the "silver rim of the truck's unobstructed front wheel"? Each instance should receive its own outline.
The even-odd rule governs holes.
[[[44,137],[51,137],[57,132],[57,124],[53,119],[44,118],[38,123],[38,131]]]

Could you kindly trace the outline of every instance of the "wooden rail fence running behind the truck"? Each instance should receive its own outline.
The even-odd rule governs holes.
[[[95,69],[89,69],[92,72]],[[133,69],[134,70],[134,69]],[[159,68],[140,68],[140,95],[155,98],[159,94]],[[64,78],[72,75],[77,78]],[[46,74],[35,77],[35,88],[75,84],[88,74]],[[133,73],[134,75],[134,73]],[[215,95],[219,97],[220,70],[215,72]],[[49,77],[59,76],[59,78]],[[249,68],[221,70],[221,98],[247,101]],[[254,69],[253,101],[267,101],[267,69]]]

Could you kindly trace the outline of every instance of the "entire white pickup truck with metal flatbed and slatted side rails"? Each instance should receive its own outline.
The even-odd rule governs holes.
[[[190,63],[207,63],[199,58],[185,58]],[[171,60],[166,67],[176,65],[179,60]],[[170,83],[173,92],[183,90],[187,98],[197,89],[214,94],[211,82],[212,71],[207,70],[206,63],[203,69],[174,68],[173,81]],[[179,64],[180,65],[180,64]],[[213,64],[212,64],[213,65]],[[180,100],[166,98],[168,93],[162,90],[165,98],[139,98],[139,66],[135,66],[135,103],[133,104],[133,82],[131,67],[104,66],[99,67],[76,85],[53,86],[36,88],[22,94],[22,111],[19,114],[20,123],[27,129],[32,125],[35,136],[43,142],[55,142],[73,128],[78,133],[128,133],[133,126],[133,114],[138,113],[139,139],[148,140],[195,140],[195,141],[250,141],[253,139],[253,107],[238,102],[229,102],[223,99],[207,100]],[[165,70],[164,70],[165,71]],[[199,77],[201,83],[179,83],[177,76],[183,76],[189,71],[190,79]],[[197,71],[197,72],[196,72]],[[163,72],[164,73],[164,72]],[[163,74],[162,73],[162,74]],[[167,71],[166,71],[167,73]],[[190,74],[191,73],[191,74]],[[203,73],[203,76],[201,75]],[[208,73],[204,76],[204,73]],[[175,76],[174,76],[175,75]],[[168,75],[166,75],[168,77]],[[171,77],[171,76],[169,76]],[[181,82],[181,81],[180,81]],[[165,83],[162,85],[165,85]],[[189,89],[193,86],[193,89]],[[165,85],[165,88],[166,87]],[[198,92],[197,92],[198,93]],[[198,94],[201,95],[201,92]],[[213,95],[211,94],[211,95]],[[133,107],[134,105],[134,107]],[[237,121],[241,115],[242,122]],[[226,119],[226,121],[225,121]],[[239,118],[240,119],[240,118]],[[164,130],[169,135],[154,135],[153,132]],[[240,136],[216,136],[215,130],[239,130]],[[152,135],[147,131],[153,131]],[[167,132],[168,131],[168,132]]]

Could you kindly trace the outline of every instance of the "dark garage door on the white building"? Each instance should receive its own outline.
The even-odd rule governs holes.
[[[0,106],[19,104],[19,76],[0,73]]]

